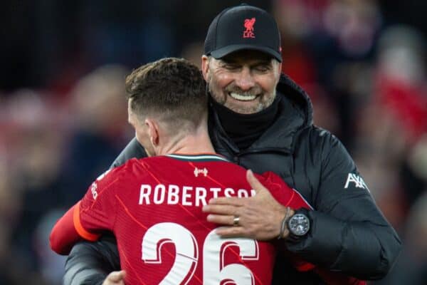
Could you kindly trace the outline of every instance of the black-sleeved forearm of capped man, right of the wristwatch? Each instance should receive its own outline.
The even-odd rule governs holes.
[[[346,222],[315,211],[309,215],[310,234],[299,242],[287,242],[290,252],[307,261],[373,280],[384,277],[399,254],[401,242],[389,224]]]

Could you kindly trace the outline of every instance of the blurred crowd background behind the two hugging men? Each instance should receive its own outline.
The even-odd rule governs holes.
[[[0,284],[60,284],[53,223],[132,138],[124,78],[200,63],[225,0],[0,4]],[[383,281],[427,282],[427,1],[246,1],[282,33],[283,72],[344,142],[404,250]],[[361,211],[363,209],[360,209]]]

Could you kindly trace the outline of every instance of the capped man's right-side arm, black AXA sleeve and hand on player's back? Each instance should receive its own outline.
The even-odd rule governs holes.
[[[310,232],[297,242],[285,239],[287,249],[330,271],[363,280],[384,277],[399,255],[401,241],[376,207],[347,150],[330,133],[315,129],[298,142],[294,155],[295,188],[305,189],[314,210],[308,213]],[[227,225],[224,215],[241,217],[242,227],[229,227],[221,234],[277,237],[283,207],[257,196],[238,203],[228,198],[209,203],[215,206],[207,210],[214,211],[212,222]]]

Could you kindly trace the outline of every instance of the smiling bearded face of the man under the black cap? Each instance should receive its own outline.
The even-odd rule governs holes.
[[[275,99],[281,63],[259,51],[237,51],[221,59],[202,56],[212,98],[236,113],[252,114]]]

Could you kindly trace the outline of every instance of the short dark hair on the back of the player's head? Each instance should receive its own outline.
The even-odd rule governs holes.
[[[136,115],[156,115],[174,126],[198,126],[207,114],[206,82],[197,66],[184,58],[162,58],[127,76],[127,98]]]

